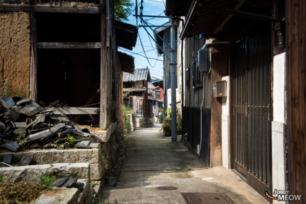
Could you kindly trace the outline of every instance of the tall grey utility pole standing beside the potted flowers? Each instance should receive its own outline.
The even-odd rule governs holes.
[[[171,16],[171,135],[172,142],[176,142],[176,82],[175,82],[175,24],[174,17]]]

